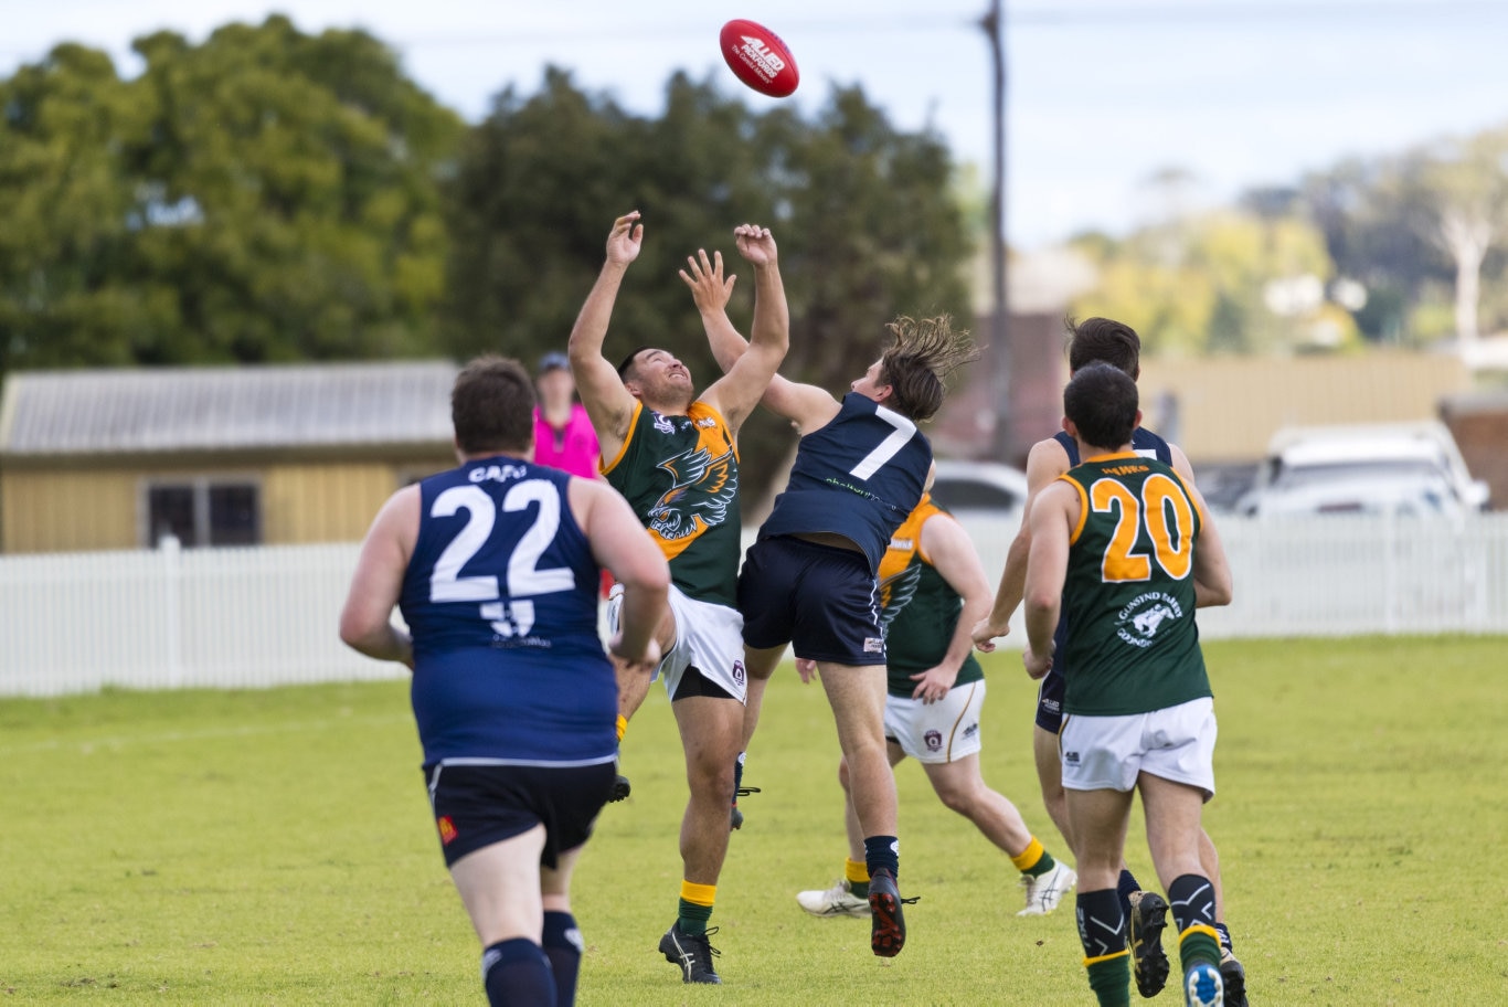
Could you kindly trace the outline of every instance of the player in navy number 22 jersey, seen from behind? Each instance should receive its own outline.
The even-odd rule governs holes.
[[[383,505],[341,612],[341,639],[413,669],[425,784],[493,1007],[575,999],[584,945],[570,874],[618,748],[600,568],[624,585],[611,650],[647,666],[670,585],[621,496],[531,461],[532,410],[517,362],[461,371],[461,464]],[[409,633],[391,621],[395,605]]]

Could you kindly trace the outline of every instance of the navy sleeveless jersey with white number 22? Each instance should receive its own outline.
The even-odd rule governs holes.
[[[498,455],[419,482],[398,608],[424,761],[590,766],[617,754],[600,568],[567,473]]]

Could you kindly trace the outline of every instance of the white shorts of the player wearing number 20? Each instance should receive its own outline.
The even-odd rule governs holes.
[[[1136,787],[1139,773],[1199,787],[1215,796],[1215,704],[1209,696],[1129,716],[1063,718],[1057,751],[1068,790]]]

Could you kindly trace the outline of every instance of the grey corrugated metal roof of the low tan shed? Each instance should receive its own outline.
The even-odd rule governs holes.
[[[446,360],[12,372],[0,455],[443,445],[455,374]]]

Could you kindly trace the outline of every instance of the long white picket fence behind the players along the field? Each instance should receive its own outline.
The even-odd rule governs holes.
[[[994,579],[1010,522],[968,520]],[[1508,514],[1458,526],[1220,523],[1235,603],[1206,639],[1508,633]],[[0,695],[392,678],[336,636],[356,544],[0,556]],[[1007,642],[1019,647],[1019,626]]]

